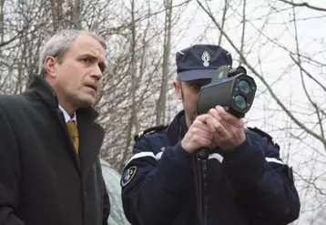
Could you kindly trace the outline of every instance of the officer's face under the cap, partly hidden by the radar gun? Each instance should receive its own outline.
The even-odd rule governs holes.
[[[174,81],[178,99],[182,99],[183,108],[185,109],[188,127],[197,118],[197,101],[199,97],[199,89],[209,84],[210,79],[198,79],[188,82]]]

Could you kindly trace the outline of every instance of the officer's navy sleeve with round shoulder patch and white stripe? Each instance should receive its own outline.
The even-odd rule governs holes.
[[[158,152],[149,147],[146,139],[136,142],[133,157],[124,169],[123,208],[134,225],[171,224],[187,198],[193,155],[180,142]]]

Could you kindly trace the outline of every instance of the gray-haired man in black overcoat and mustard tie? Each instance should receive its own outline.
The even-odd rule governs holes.
[[[99,36],[63,30],[40,55],[25,92],[0,96],[0,224],[107,224],[92,107],[105,69]]]

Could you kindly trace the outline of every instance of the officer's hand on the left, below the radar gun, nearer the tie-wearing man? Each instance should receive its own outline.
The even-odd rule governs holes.
[[[199,148],[209,148],[212,145],[212,134],[206,121],[208,114],[200,115],[188,129],[187,134],[181,141],[181,146],[189,153],[194,153]]]

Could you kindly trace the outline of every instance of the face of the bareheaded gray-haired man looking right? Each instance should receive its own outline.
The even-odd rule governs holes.
[[[56,89],[59,104],[78,108],[90,107],[96,102],[106,66],[105,56],[105,49],[96,39],[78,36],[61,62],[52,58],[53,65],[50,64],[48,75]]]

